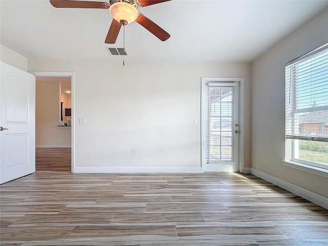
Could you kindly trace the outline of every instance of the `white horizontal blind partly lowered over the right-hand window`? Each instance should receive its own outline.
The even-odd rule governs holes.
[[[286,138],[328,142],[328,45],[286,64]]]

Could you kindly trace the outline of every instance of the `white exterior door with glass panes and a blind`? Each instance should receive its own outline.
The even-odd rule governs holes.
[[[202,81],[202,170],[239,171],[239,83]]]

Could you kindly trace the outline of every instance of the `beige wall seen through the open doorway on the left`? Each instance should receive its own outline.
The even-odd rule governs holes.
[[[59,81],[35,82],[35,146],[71,147],[71,128],[57,127],[60,120]]]

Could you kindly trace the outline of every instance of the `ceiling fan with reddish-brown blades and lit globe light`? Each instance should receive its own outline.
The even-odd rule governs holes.
[[[137,8],[168,1],[171,0],[110,0],[109,3],[75,0],[50,0],[50,3],[55,8],[109,9],[113,20],[106,36],[105,43],[115,44],[121,26],[128,25],[134,21],[146,28],[160,40],[167,40],[170,37],[170,34],[157,26],[144,14],[139,13]]]

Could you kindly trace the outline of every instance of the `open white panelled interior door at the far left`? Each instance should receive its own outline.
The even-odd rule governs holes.
[[[0,183],[35,172],[35,77],[1,61]]]

